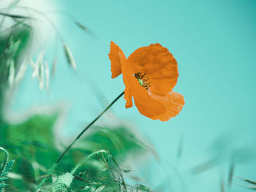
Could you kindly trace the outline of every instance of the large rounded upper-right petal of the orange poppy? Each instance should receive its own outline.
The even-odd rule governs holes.
[[[165,96],[175,87],[178,79],[177,61],[159,43],[138,48],[127,61],[133,68],[140,68],[146,73],[151,82],[151,93]]]

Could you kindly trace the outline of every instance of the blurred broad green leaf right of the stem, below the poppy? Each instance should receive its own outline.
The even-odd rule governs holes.
[[[78,140],[75,147],[87,152],[105,150],[118,161],[123,161],[131,153],[140,153],[141,155],[146,153],[146,150],[154,153],[154,150],[140,142],[130,128],[125,126],[95,127],[94,133],[87,134],[86,137]]]

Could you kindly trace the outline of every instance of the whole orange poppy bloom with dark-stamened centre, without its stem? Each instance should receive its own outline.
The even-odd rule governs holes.
[[[169,120],[181,112],[184,98],[173,88],[178,79],[177,61],[159,43],[140,47],[127,59],[114,42],[110,44],[112,78],[123,74],[126,107],[132,107],[132,97],[142,115],[153,120]]]

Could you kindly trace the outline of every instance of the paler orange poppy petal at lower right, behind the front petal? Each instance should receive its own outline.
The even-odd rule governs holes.
[[[158,96],[151,94],[152,99],[156,99],[165,105],[165,112],[159,115],[155,115],[152,119],[159,119],[161,121],[170,120],[181,112],[182,107],[185,104],[184,97],[180,93],[170,91],[165,96]]]

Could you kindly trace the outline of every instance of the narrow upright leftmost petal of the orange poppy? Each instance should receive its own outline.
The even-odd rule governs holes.
[[[123,51],[116,45],[116,43],[110,43],[110,53],[108,57],[111,61],[111,72],[112,78],[116,78],[119,74],[121,74],[121,63],[126,61],[127,58],[125,57]]]

